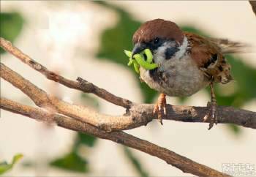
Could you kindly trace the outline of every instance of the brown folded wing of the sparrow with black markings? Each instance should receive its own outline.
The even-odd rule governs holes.
[[[209,80],[228,83],[232,80],[230,64],[218,45],[196,34],[184,33],[189,40],[189,54]]]

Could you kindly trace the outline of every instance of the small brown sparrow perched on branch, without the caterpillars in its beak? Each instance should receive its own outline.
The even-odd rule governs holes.
[[[140,80],[161,93],[153,112],[158,114],[161,124],[167,115],[166,95],[187,97],[206,86],[211,89],[211,102],[207,104],[208,113],[203,120],[210,122],[208,129],[217,124],[214,83],[226,84],[233,80],[224,54],[238,52],[243,44],[201,37],[182,31],[176,23],[162,19],[143,23],[135,31],[132,42],[132,56],[148,48],[154,63],[159,64],[151,70],[140,67]]]

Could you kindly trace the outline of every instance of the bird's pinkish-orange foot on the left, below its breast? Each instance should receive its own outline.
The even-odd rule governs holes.
[[[162,118],[167,115],[166,112],[166,94],[160,94],[156,105],[154,105],[153,115],[157,113],[157,118],[160,124],[162,124]]]

